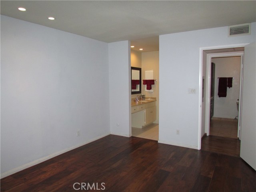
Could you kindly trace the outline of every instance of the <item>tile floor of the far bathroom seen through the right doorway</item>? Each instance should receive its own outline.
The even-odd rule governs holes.
[[[212,119],[210,121],[210,135],[237,139],[237,126],[238,120]]]

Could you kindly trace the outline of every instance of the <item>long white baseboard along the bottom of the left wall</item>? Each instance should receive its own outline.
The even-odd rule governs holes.
[[[41,162],[44,162],[44,161],[46,161],[46,160],[48,160],[48,159],[50,159],[50,158],[56,157],[56,156],[58,156],[58,155],[60,155],[60,154],[66,153],[66,152],[68,152],[68,151],[70,151],[70,150],[73,150],[73,149],[75,149],[75,148],[78,148],[78,147],[83,146],[83,145],[85,145],[85,144],[88,144],[88,143],[90,143],[90,142],[93,142],[93,141],[95,141],[95,140],[98,140],[98,139],[100,139],[100,138],[103,138],[103,137],[105,137],[105,136],[108,136],[108,135],[110,135],[110,133],[104,134],[104,135],[102,135],[102,136],[98,136],[98,137],[96,137],[96,138],[93,138],[93,139],[91,139],[91,140],[88,140],[88,141],[86,141],[86,142],[83,142],[83,143],[81,143],[81,144],[79,144],[79,145],[76,145],[76,146],[73,146],[73,147],[70,147],[70,148],[67,148],[67,149],[58,151],[58,152],[56,152],[56,153],[50,154],[50,155],[48,155],[48,156],[45,156],[45,157],[40,158],[40,159],[38,159],[38,160],[35,160],[35,161],[33,161],[33,162],[30,162],[30,163],[24,164],[24,165],[22,165],[22,166],[19,166],[19,167],[17,167],[17,168],[14,168],[14,169],[12,169],[12,170],[10,170],[10,171],[8,171],[8,172],[4,172],[4,173],[1,174],[1,179],[4,178],[4,177],[9,176],[9,175],[11,175],[11,174],[14,174],[14,173],[16,173],[16,172],[19,172],[19,171],[21,171],[21,170],[24,170],[24,169],[26,169],[26,168],[29,168],[29,167],[31,167],[31,166],[34,166],[34,165],[36,165],[36,164],[39,164],[39,163],[41,163]]]

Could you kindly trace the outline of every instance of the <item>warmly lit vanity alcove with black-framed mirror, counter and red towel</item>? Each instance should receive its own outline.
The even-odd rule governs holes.
[[[159,139],[159,52],[131,50],[132,136]]]

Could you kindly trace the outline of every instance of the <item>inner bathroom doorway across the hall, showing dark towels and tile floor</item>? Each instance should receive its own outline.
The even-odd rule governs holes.
[[[241,56],[212,57],[211,59],[209,135],[226,138],[239,136],[240,68]],[[227,78],[230,81],[228,86]],[[221,87],[223,80],[226,80],[226,85]]]

